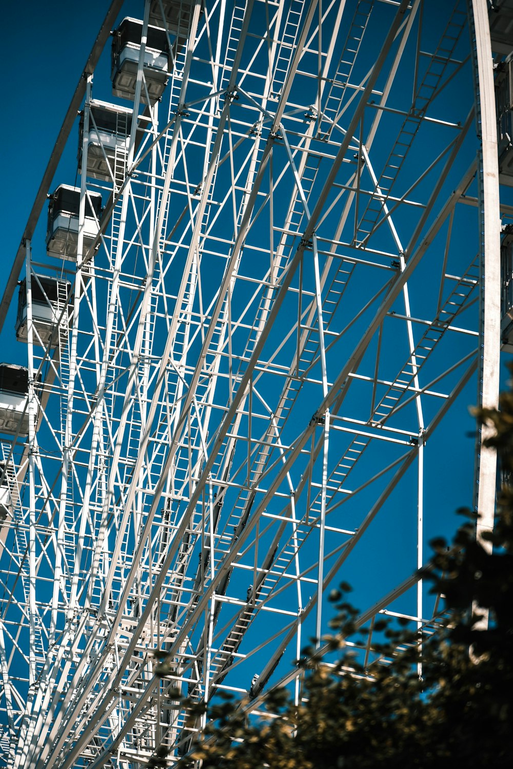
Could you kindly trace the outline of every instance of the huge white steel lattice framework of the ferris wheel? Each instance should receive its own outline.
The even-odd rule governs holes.
[[[173,766],[204,726],[177,688],[299,698],[290,661],[341,579],[360,624],[406,617],[422,643],[444,424],[468,383],[497,398],[485,2],[140,5],[101,27],[55,150],[81,107],[81,186],[50,163],[2,302],[25,263],[28,371],[0,382],[9,767],[159,745]]]

